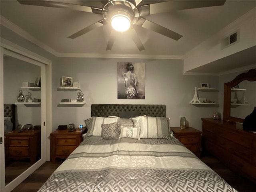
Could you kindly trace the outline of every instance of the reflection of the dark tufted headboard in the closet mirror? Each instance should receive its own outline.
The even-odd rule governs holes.
[[[17,106],[14,104],[4,104],[4,116],[11,117],[12,130],[18,128],[18,115],[17,115]]]

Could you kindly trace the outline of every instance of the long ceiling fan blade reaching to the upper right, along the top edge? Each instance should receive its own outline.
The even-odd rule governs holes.
[[[152,15],[157,13],[165,13],[174,10],[194,9],[202,7],[222,6],[226,1],[221,0],[182,0],[182,1],[166,1],[154,4],[147,4],[138,7],[140,16]]]

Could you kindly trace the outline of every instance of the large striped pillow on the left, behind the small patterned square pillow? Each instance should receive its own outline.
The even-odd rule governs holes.
[[[88,129],[87,136],[101,136],[102,128],[101,124],[109,124],[118,122],[119,117],[91,117],[84,120]]]

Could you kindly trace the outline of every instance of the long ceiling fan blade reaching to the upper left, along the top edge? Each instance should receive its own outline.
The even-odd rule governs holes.
[[[44,6],[44,7],[54,7],[54,8],[67,8],[76,11],[84,11],[89,13],[102,14],[102,8],[89,7],[83,5],[76,5],[70,3],[54,2],[54,1],[31,1],[31,0],[22,0],[18,1],[23,5],[35,5],[35,6]]]

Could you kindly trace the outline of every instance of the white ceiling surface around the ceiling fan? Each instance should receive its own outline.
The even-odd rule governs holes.
[[[62,8],[22,5],[14,0],[1,0],[0,6],[1,16],[59,54],[138,54],[179,57],[184,56],[192,48],[254,8],[256,1],[228,0],[224,6],[146,16],[148,20],[173,30],[183,37],[176,41],[137,27],[138,36],[145,47],[141,52],[132,41],[129,31],[118,34],[112,50],[106,51],[110,36],[110,29],[106,25],[74,40],[67,38],[102,19],[101,15]]]

